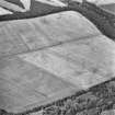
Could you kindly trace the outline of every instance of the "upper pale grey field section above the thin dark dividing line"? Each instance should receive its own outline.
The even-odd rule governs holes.
[[[79,22],[79,20],[81,21]],[[83,25],[89,26],[85,30]],[[59,13],[27,21],[1,22],[0,58],[99,34],[94,25],[76,12]]]

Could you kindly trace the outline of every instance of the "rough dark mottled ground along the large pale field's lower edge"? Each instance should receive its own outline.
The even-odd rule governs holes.
[[[33,107],[23,115],[114,115],[115,78],[70,96]],[[9,114],[8,114],[9,115]],[[18,115],[22,115],[21,113]]]

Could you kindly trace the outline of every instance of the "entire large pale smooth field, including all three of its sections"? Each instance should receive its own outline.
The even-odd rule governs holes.
[[[115,76],[115,43],[79,13],[0,26],[0,108],[23,112]]]

